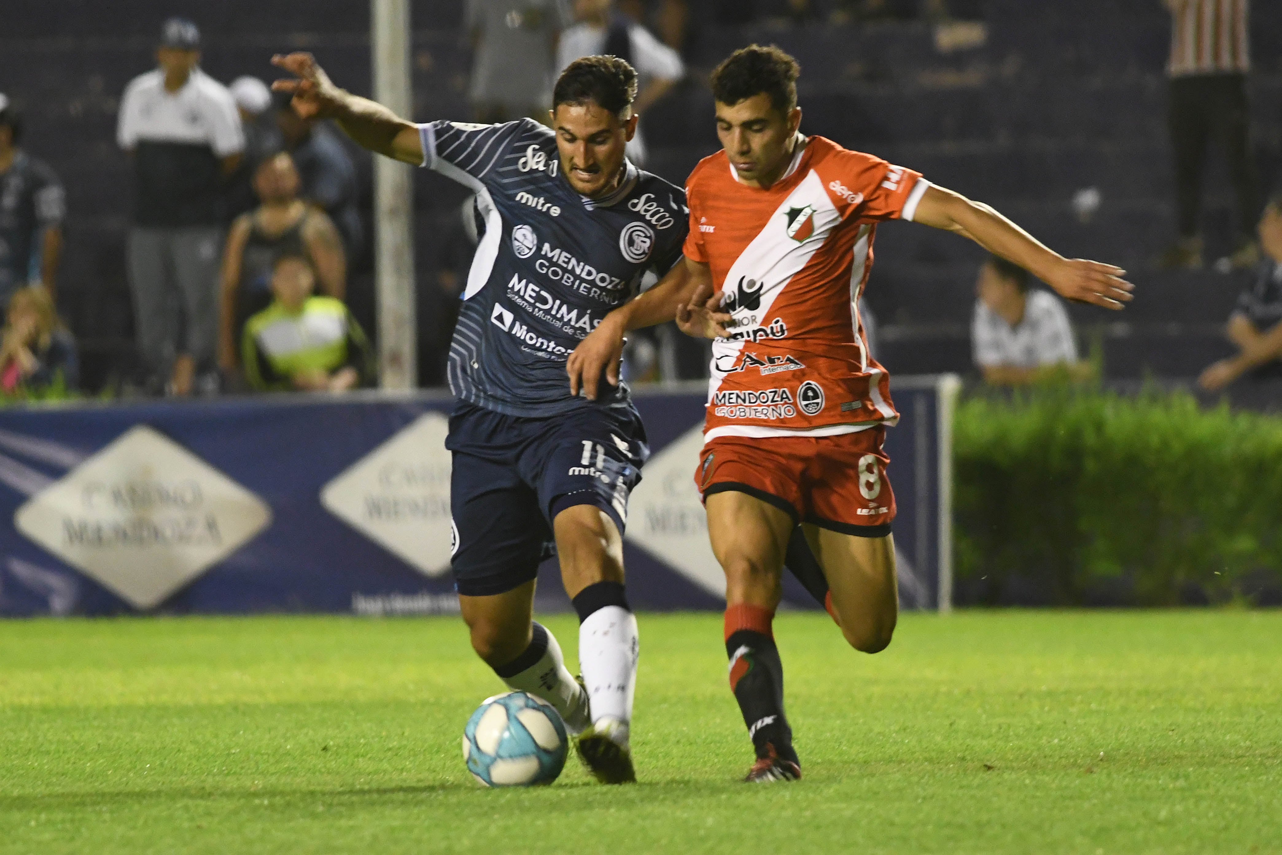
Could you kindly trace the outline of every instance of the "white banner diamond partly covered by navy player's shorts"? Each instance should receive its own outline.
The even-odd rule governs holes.
[[[320,491],[320,504],[424,576],[450,569],[450,423],[415,419]]]

